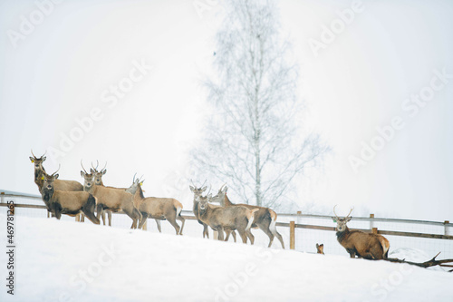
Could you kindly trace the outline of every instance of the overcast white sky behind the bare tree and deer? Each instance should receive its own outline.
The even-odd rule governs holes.
[[[200,17],[194,3],[212,8]],[[416,114],[405,102],[429,93],[434,70],[453,74],[453,3],[364,1],[317,56],[310,39],[321,41],[323,25],[341,25],[337,11],[352,1],[285,0],[280,7],[282,34],[300,63],[305,125],[333,148],[323,171],[308,171],[300,184],[301,206],[453,220],[453,78],[434,80],[443,87]],[[61,149],[62,135],[77,132],[77,119],[94,111],[92,129],[64,156],[51,161],[48,154],[46,170],[61,164],[62,179],[82,181],[81,159],[85,166],[108,161],[104,183],[128,186],[138,171],[148,196],[172,195],[190,209],[182,177],[188,146],[203,132],[199,79],[213,60],[221,5],[67,0],[42,22],[37,9],[34,1],[0,2],[0,189],[38,193],[30,149],[38,156]],[[33,32],[24,24],[30,15],[40,22]],[[9,35],[21,28],[31,33],[14,47]],[[143,75],[140,63],[152,70],[141,68]],[[130,91],[114,97],[109,90],[119,83]],[[360,158],[362,142],[379,142],[376,128],[395,117],[404,127],[354,171],[350,158]]]

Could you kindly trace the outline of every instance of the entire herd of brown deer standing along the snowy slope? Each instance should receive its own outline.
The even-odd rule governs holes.
[[[84,180],[83,185],[75,180],[59,180],[57,171],[49,175],[43,168],[45,153],[40,158],[33,157],[30,161],[34,163],[34,182],[43,198],[47,210],[54,217],[60,219],[62,214],[76,216],[83,214],[94,224],[100,224],[102,219],[105,225],[105,214],[108,216],[108,224],[111,226],[111,212],[122,210],[132,219],[131,229],[142,229],[148,218],[155,219],[159,232],[160,220],[168,220],[175,228],[177,235],[182,235],[185,219],[181,216],[182,204],[171,198],[145,198],[141,186],[144,180],[132,180],[129,188],[107,187],[102,182],[102,176],[106,173],[106,166],[97,170],[92,165],[90,173],[83,168],[81,175]],[[206,181],[205,181],[206,182]],[[192,182],[189,189],[194,193],[193,212],[198,219],[198,223],[203,225],[203,238],[209,238],[208,227],[217,231],[218,239],[227,241],[230,235],[236,242],[236,231],[242,241],[250,240],[254,244],[255,238],[250,229],[261,229],[269,237],[271,247],[275,237],[280,241],[284,248],[284,240],[275,229],[277,214],[274,210],[252,206],[248,204],[234,204],[226,196],[228,188],[224,184],[217,192],[217,195],[203,193],[207,186],[201,185],[199,188]],[[218,203],[215,205],[213,203]],[[96,215],[94,214],[96,212]],[[352,209],[346,217],[340,218],[333,208],[333,222],[337,223],[337,239],[343,248],[350,254],[368,259],[388,258],[390,248],[389,241],[378,234],[364,233],[359,230],[350,230],[347,222]],[[176,220],[181,221],[179,227]],[[224,237],[224,232],[226,237]],[[323,245],[316,244],[318,253],[323,254]]]

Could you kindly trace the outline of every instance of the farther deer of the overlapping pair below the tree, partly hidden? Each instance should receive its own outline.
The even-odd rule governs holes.
[[[246,207],[247,209],[258,209],[255,213],[255,220],[252,225],[252,228],[259,228],[265,232],[265,234],[269,237],[269,245],[268,248],[272,246],[274,238],[276,237],[280,243],[282,244],[282,248],[284,248],[284,240],[282,235],[275,229],[277,214],[274,210],[265,208],[265,207],[258,207],[253,205],[248,205],[244,203],[235,204],[231,202],[228,197],[226,196],[226,191],[228,187],[224,184],[217,192],[217,195],[212,198],[212,202],[218,202],[223,207]]]

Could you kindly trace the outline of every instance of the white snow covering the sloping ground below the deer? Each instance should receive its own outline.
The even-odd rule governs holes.
[[[1,301],[362,302],[453,297],[452,274],[405,264],[91,222],[22,216],[14,222],[15,292],[14,297],[7,295],[4,286]],[[6,225],[4,214],[0,224]],[[6,246],[5,235],[0,242]],[[417,254],[411,249],[398,253],[401,258]],[[5,280],[5,252],[0,253],[0,263]]]

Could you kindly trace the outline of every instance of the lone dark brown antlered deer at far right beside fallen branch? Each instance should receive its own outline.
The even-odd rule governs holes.
[[[390,243],[379,234],[364,233],[361,230],[350,230],[346,225],[351,221],[352,209],[346,217],[338,217],[333,207],[333,222],[336,222],[337,240],[349,253],[351,258],[387,259],[389,256]]]

